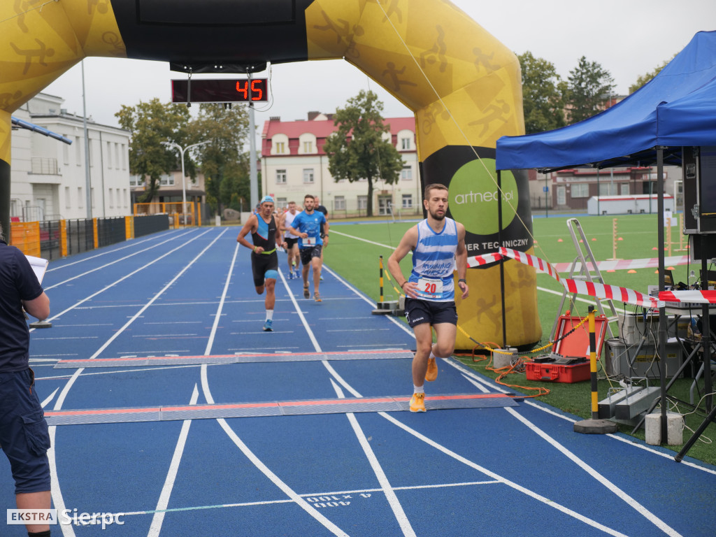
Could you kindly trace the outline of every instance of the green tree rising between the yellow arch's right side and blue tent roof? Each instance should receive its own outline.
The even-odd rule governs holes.
[[[518,59],[522,70],[525,133],[563,127],[566,82],[546,59],[533,57],[529,51],[518,55]]]

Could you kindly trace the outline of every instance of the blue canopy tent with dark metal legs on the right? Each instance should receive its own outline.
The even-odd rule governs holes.
[[[601,114],[561,129],[501,137],[497,141],[495,168],[498,170],[499,183],[500,170],[599,169],[656,163],[659,200],[657,244],[663,244],[663,166],[681,165],[682,147],[704,145],[716,145],[716,32],[698,32],[682,52],[649,83]],[[716,188],[716,185],[712,188]],[[702,253],[702,274],[706,274],[706,258]],[[659,291],[663,290],[664,250],[659,248]],[[710,323],[707,304],[702,306],[702,319],[705,390],[710,393]],[[666,332],[666,314],[664,308],[661,308],[658,340],[660,356],[666,356]],[[671,383],[667,385],[665,376],[662,367],[662,402],[666,401],[666,393],[671,386]],[[677,376],[674,375],[674,379]],[[649,412],[656,404],[654,402]],[[707,397],[707,408],[711,404],[710,397]],[[701,427],[676,456],[677,461],[683,458],[715,417],[716,407],[713,407]],[[662,442],[666,442],[665,404],[662,404],[661,437]]]

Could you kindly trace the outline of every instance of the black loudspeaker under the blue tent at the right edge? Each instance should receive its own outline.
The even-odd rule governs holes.
[[[716,146],[684,147],[684,233],[716,233]]]

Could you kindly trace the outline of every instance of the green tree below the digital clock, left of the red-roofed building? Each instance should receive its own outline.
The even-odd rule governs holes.
[[[208,141],[198,147],[205,177],[206,200],[214,211],[248,207],[248,155],[241,147],[248,137],[248,112],[243,107],[221,104],[200,105],[199,115],[190,125],[193,138]]]

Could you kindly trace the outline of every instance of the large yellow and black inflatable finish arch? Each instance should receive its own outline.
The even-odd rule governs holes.
[[[195,73],[216,64],[233,72],[231,66],[344,58],[415,112],[422,183],[448,186],[450,216],[465,225],[469,254],[495,251],[498,241],[533,251],[526,173],[502,174],[501,228],[495,183],[496,140],[524,133],[520,66],[450,1],[3,1],[0,36],[6,229],[11,113],[84,57],[153,59]],[[471,269],[468,284],[470,298],[458,303],[458,314],[473,339],[520,346],[541,338],[533,269],[515,261]],[[458,349],[473,346],[458,332]]]

